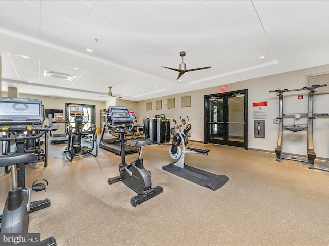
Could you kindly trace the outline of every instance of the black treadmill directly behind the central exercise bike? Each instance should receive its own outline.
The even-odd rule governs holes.
[[[99,148],[111,151],[114,154],[121,156],[121,140],[114,136],[108,139],[104,139],[105,128],[110,128],[111,125],[112,125],[111,115],[109,114],[109,111],[106,111],[105,122],[103,125],[101,138],[99,141]],[[124,144],[124,150],[125,150],[125,154],[132,154],[138,152],[139,148],[136,148],[128,144]]]

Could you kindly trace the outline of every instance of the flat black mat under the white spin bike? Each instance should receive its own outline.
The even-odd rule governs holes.
[[[188,165],[184,165],[184,168],[180,168],[171,163],[163,166],[162,169],[181,178],[197,183],[197,185],[208,187],[214,191],[224,186],[229,180],[229,178],[225,175],[209,173]]]

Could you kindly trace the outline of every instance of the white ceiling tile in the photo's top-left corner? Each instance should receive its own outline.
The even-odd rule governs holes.
[[[0,13],[34,25],[40,24],[39,8],[25,1],[0,1]]]

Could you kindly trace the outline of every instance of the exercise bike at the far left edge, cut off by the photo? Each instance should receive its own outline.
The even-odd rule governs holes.
[[[6,112],[4,117],[0,117],[0,132],[15,133],[14,137],[1,136],[0,140],[15,141],[17,148],[16,152],[0,156],[0,167],[11,166],[12,178],[12,189],[8,192],[3,213],[0,214],[1,233],[27,233],[29,213],[50,206],[48,198],[31,202],[31,189],[25,187],[25,165],[38,159],[34,153],[25,152],[26,141],[38,139],[48,131],[58,128],[52,124],[42,127],[42,120],[38,119],[40,109],[40,100],[0,98],[0,112]],[[38,134],[30,135],[30,131],[37,131]],[[32,186],[35,191],[46,188],[42,183]],[[49,237],[41,241],[41,245],[56,245],[56,240]]]

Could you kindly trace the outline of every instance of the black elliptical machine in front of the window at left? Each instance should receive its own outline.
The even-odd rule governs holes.
[[[82,146],[81,145],[81,138],[84,135],[83,127],[85,126],[86,122],[83,123],[83,106],[82,105],[75,105],[71,104],[69,105],[70,110],[70,116],[74,118],[74,126],[71,124],[67,127],[68,134],[68,146],[66,147],[64,153],[68,152],[68,155],[66,158],[69,161],[73,160],[73,157],[75,155],[85,155],[90,154],[94,157],[97,156],[98,148],[97,148],[97,135],[96,135],[96,125],[91,125],[88,130],[92,130],[93,136],[92,136],[92,147],[89,146]],[[88,115],[89,117],[89,115]],[[69,120],[67,120],[69,122]],[[94,145],[96,148],[95,153],[92,153],[94,150]]]

